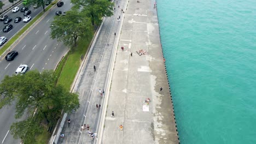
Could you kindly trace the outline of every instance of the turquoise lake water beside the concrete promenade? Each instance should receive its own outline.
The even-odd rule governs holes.
[[[256,1],[157,2],[181,143],[256,143]]]

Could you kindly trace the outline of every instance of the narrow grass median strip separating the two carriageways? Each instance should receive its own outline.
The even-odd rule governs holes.
[[[9,39],[7,43],[0,49],[0,55],[2,55],[30,26],[33,25],[46,11],[48,11],[53,5],[49,5],[45,8],[45,11],[41,11],[36,17],[34,17],[25,27],[21,29],[13,38]]]

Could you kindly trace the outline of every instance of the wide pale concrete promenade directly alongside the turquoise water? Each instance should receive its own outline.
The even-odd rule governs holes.
[[[97,143],[179,143],[154,3],[126,1]]]

